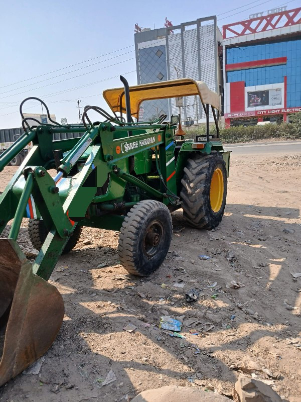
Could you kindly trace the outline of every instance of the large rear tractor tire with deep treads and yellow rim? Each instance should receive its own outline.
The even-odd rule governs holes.
[[[227,171],[220,152],[196,152],[182,179],[183,215],[194,228],[212,229],[221,222],[227,197]]]

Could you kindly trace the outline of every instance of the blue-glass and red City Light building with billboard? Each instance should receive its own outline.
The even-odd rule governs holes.
[[[301,8],[223,26],[225,125],[280,123],[301,111]]]

